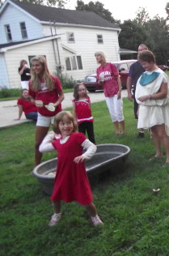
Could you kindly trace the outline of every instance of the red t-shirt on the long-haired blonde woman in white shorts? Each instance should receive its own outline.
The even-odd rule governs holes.
[[[58,92],[62,90],[62,87],[60,80],[56,76],[53,76],[53,79],[55,81],[53,90],[49,90],[42,79],[40,80],[40,90],[35,92],[32,91],[32,84],[29,82],[29,95],[36,100],[42,100],[44,105],[55,103],[59,98]],[[45,107],[37,108],[37,111],[44,117],[53,117],[61,111],[61,104],[57,106],[54,112],[49,111],[49,109],[46,109]]]

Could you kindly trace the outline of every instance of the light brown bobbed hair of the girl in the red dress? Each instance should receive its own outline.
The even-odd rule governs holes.
[[[57,115],[54,117],[54,122],[53,122],[53,131],[56,134],[61,134],[61,130],[59,130],[59,123],[61,122],[61,120],[63,120],[63,117],[67,117],[71,122],[73,122],[74,125],[74,130],[73,132],[76,132],[78,130],[78,126],[74,120],[74,117],[72,115],[72,113],[70,113],[70,111],[61,111],[59,113],[57,113]]]

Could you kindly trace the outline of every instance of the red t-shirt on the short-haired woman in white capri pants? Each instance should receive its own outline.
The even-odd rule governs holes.
[[[119,85],[116,80],[116,76],[119,75],[116,66],[112,63],[106,63],[105,66],[99,66],[97,68],[97,79],[99,75],[104,73],[104,95],[106,97],[112,97],[119,91]]]

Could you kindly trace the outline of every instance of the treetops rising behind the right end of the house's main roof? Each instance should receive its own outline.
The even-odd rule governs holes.
[[[85,4],[82,0],[77,1],[76,10],[78,11],[93,11],[97,15],[104,19],[107,19],[111,23],[115,23],[115,19],[112,17],[112,13],[108,9],[104,9],[104,4],[97,2],[89,2]]]

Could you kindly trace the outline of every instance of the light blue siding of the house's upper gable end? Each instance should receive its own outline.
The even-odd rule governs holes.
[[[0,18],[0,42],[6,44],[6,32],[4,25],[9,24],[11,28],[12,41],[23,41],[20,23],[25,22],[27,28],[27,39],[32,40],[44,36],[42,32],[42,25],[31,19],[28,15],[23,14],[15,6],[7,6],[6,11]],[[25,39],[25,40],[27,40]]]

